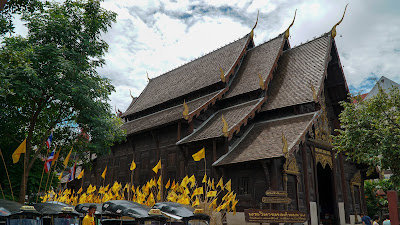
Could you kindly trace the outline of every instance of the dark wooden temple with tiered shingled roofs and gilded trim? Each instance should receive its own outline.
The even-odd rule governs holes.
[[[292,23],[293,24],[293,23]],[[339,23],[338,23],[339,24]],[[363,166],[332,150],[340,101],[349,93],[334,28],[292,48],[289,28],[255,46],[254,28],[244,37],[183,66],[149,79],[122,114],[127,141],[93,162],[84,186],[154,177],[164,180],[206,172],[232,180],[246,208],[283,209],[263,203],[267,190],[287,191],[287,209],[306,212],[308,224],[354,224],[366,212]],[[222,117],[227,126],[224,128]]]

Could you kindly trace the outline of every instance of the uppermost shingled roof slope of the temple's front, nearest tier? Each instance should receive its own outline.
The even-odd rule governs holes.
[[[318,93],[325,78],[331,47],[327,33],[285,51],[269,84],[268,100],[261,111],[313,101],[311,84]]]

